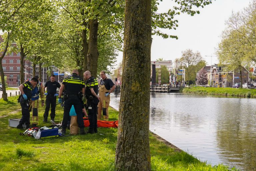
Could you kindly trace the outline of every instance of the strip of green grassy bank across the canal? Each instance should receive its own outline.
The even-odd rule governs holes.
[[[256,89],[215,88],[215,87],[186,87],[180,90],[183,93],[209,94],[221,96],[256,97]]]

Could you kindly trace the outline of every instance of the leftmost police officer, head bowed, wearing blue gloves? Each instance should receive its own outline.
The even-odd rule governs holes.
[[[32,89],[37,84],[38,84],[38,79],[33,77],[30,81],[26,81],[25,83],[19,86],[21,95],[18,99],[18,102],[20,103],[20,106],[21,106],[22,117],[17,126],[18,129],[23,129],[22,125],[24,123],[26,124],[26,128],[29,128],[29,124],[30,124],[29,101],[32,96]]]

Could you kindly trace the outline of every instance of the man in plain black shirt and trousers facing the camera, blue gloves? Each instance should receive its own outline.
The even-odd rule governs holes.
[[[56,96],[58,96],[59,94],[57,93],[57,87],[60,88],[60,83],[58,83],[57,81],[55,81],[55,75],[51,75],[51,80],[47,81],[44,84],[44,92],[45,92],[45,88],[47,87],[47,93],[44,93],[44,95],[46,95],[46,106],[45,106],[45,111],[44,111],[44,120],[43,122],[47,122],[48,119],[48,115],[49,115],[49,110],[50,110],[50,106],[51,106],[51,120],[54,121],[55,118],[55,107],[56,107]]]

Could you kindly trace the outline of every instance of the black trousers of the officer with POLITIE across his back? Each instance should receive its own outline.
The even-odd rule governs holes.
[[[74,105],[76,116],[77,116],[77,124],[79,128],[84,128],[84,120],[83,120],[83,112],[82,112],[82,103],[81,99],[78,98],[77,94],[68,94],[68,98],[64,101],[64,114],[63,121],[61,127],[63,129],[67,128],[67,124],[69,121],[69,112],[70,109]]]

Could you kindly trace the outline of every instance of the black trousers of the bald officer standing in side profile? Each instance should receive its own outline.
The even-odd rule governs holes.
[[[87,106],[88,106],[88,119],[90,122],[89,128],[91,129],[96,129],[97,128],[97,105],[98,103],[95,104],[95,101],[98,102],[98,99],[87,99]]]

